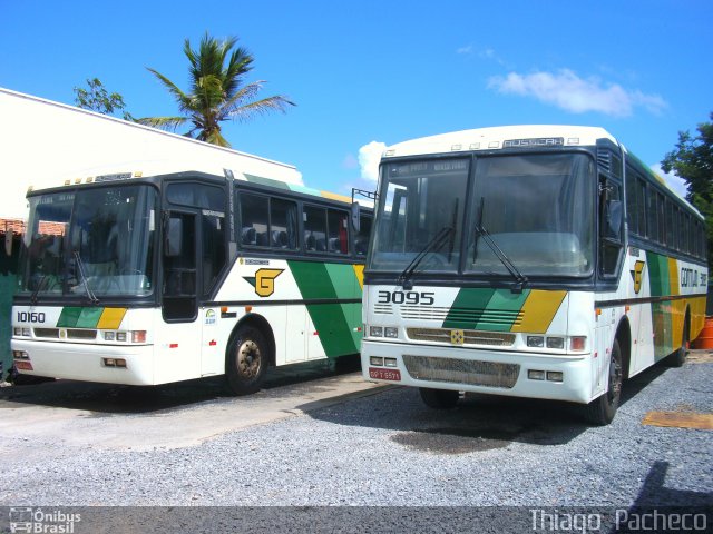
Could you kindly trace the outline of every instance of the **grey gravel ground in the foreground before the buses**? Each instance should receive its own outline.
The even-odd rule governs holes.
[[[688,363],[627,383],[607,427],[583,425],[570,406],[502,397],[434,412],[392,388],[188,448],[1,436],[14,454],[0,505],[712,506],[713,433],[641,424],[649,411],[710,414],[712,392],[713,364]]]

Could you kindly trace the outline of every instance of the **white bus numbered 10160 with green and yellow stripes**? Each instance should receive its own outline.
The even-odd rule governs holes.
[[[31,190],[12,309],[21,374],[156,385],[356,354],[371,210],[251,172],[124,172]],[[149,162],[147,162],[148,165]]]

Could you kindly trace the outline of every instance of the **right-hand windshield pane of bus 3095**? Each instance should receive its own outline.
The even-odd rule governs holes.
[[[476,226],[526,276],[585,276],[593,268],[594,161],[586,155],[481,158],[471,200]],[[466,273],[507,274],[469,233]]]

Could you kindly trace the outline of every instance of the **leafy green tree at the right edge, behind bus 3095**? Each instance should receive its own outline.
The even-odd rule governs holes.
[[[713,112],[712,122],[697,126],[697,135],[678,132],[676,148],[661,162],[665,172],[675,171],[686,182],[688,200],[705,217],[709,258],[713,258]]]

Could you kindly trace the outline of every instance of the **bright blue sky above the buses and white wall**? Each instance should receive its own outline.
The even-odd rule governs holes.
[[[74,103],[98,77],[175,115],[146,67],[186,87],[184,39],[237,36],[297,107],[226,123],[233,148],[349,194],[383,145],[486,126],[602,126],[656,165],[713,111],[712,22],[710,0],[0,0],[0,87]]]

